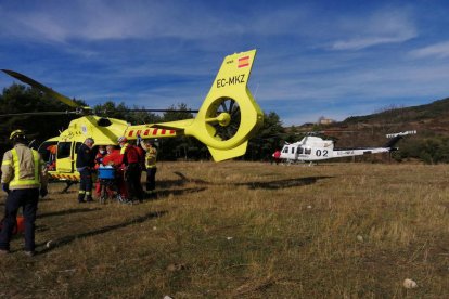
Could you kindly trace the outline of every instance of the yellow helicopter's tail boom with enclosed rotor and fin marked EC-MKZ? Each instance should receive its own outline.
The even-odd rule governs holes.
[[[137,131],[150,127],[161,128],[172,130],[174,135],[196,138],[207,145],[216,161],[244,155],[248,139],[264,123],[264,113],[247,88],[255,56],[256,50],[252,50],[224,57],[195,118],[131,126],[128,136],[136,138]]]

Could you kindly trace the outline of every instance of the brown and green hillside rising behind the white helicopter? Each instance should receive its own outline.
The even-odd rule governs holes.
[[[310,125],[296,127],[310,130]],[[377,146],[387,142],[385,134],[416,130],[398,143],[396,160],[420,160],[427,164],[449,162],[449,98],[425,105],[386,107],[365,116],[351,116],[326,126],[313,126],[325,134],[337,139],[337,145]],[[375,157],[374,160],[385,159]]]

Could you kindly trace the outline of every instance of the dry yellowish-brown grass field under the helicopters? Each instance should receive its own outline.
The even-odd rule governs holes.
[[[134,206],[79,205],[52,184],[39,255],[14,238],[0,297],[449,298],[448,178],[447,165],[164,162],[158,198]]]

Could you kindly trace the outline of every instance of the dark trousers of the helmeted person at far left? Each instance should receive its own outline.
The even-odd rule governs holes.
[[[18,208],[23,208],[25,219],[25,250],[35,250],[35,221],[39,202],[39,188],[12,190],[4,206],[4,222],[0,233],[0,249],[10,249],[10,240]]]

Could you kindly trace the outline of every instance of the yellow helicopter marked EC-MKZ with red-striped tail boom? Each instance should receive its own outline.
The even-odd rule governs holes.
[[[137,126],[130,126],[121,119],[95,116],[92,108],[81,107],[29,77],[13,70],[2,70],[76,109],[69,113],[84,115],[72,120],[59,136],[39,146],[44,158],[54,155],[55,168],[49,170],[51,178],[77,182],[76,153],[86,138],[93,138],[97,146],[117,144],[121,135],[128,140],[134,140],[138,135],[142,139],[191,135],[207,145],[215,161],[244,155],[248,139],[264,123],[264,113],[247,88],[255,56],[256,50],[251,50],[224,57],[195,118]],[[50,148],[55,151],[51,152]]]

